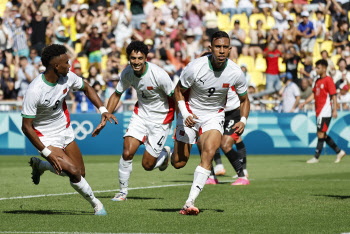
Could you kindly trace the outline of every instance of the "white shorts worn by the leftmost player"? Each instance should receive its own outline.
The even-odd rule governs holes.
[[[55,133],[54,135],[45,135],[39,137],[40,141],[47,146],[54,146],[60,149],[65,149],[72,141],[74,141],[74,131],[70,125],[68,128],[61,132]]]

